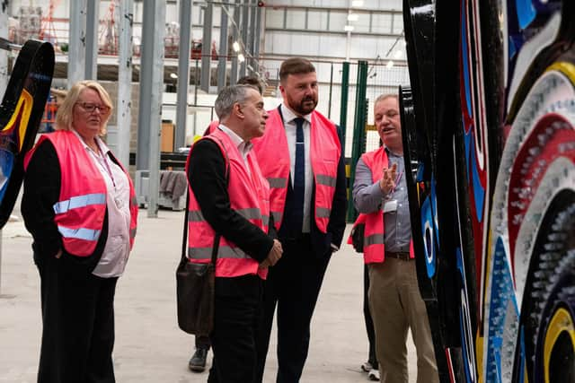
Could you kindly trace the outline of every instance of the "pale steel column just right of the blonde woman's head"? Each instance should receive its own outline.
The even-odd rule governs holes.
[[[132,22],[134,0],[119,2],[119,57],[118,57],[118,158],[125,167],[129,165],[129,143],[132,126]]]

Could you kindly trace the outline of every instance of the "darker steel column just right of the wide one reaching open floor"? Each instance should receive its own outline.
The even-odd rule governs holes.
[[[191,0],[180,0],[180,50],[178,54],[178,99],[176,102],[175,149],[186,145],[188,91],[190,90]]]

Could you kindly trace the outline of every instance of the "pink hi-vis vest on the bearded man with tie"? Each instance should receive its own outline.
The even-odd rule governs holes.
[[[315,181],[315,224],[327,231],[332,213],[333,195],[341,156],[340,139],[335,125],[321,114],[312,113],[310,160]],[[261,172],[270,182],[270,209],[279,230],[288,195],[290,171],[288,139],[278,109],[268,112],[266,131],[253,140],[253,150],[260,160]]]

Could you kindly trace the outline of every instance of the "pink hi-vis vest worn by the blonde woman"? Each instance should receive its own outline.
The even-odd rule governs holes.
[[[28,168],[35,148],[44,140],[54,145],[62,173],[60,196],[53,206],[57,231],[62,235],[67,253],[88,257],[93,254],[102,233],[106,215],[106,182],[78,137],[66,130],[41,135],[38,143],[26,154],[24,169]],[[115,157],[114,161],[119,164]],[[128,173],[121,164],[119,166],[129,183],[129,245],[132,248],[137,228],[136,192]]]

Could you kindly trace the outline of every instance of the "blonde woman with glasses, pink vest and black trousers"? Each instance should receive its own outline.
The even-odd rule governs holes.
[[[75,83],[24,161],[22,216],[40,272],[38,382],[114,382],[113,301],[136,234],[128,173],[102,142],[111,100]]]

